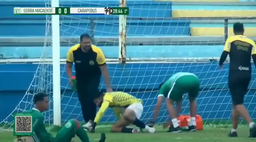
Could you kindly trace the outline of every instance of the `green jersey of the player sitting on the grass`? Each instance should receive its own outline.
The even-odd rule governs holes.
[[[45,129],[43,114],[35,108],[27,110],[26,113],[32,114],[34,142],[52,142],[52,134]]]

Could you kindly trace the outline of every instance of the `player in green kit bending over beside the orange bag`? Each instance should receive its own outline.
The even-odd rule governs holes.
[[[177,114],[181,110],[183,94],[188,93],[188,99],[190,101],[191,122],[187,130],[196,131],[196,97],[199,92],[199,86],[200,84],[198,77],[192,73],[176,73],[167,81],[162,83],[159,86],[159,95],[157,97],[153,119],[149,126],[154,126],[154,121],[158,116],[161,103],[164,98],[167,98],[166,105],[173,123],[173,126],[170,126],[167,132],[181,132],[177,121]],[[176,111],[174,109],[174,102],[176,102]]]

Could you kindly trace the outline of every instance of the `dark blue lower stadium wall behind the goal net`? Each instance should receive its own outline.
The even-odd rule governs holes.
[[[62,92],[65,91],[63,99],[61,100],[62,120],[71,118],[78,118],[82,121],[81,108],[78,103],[76,94],[73,91],[66,88],[70,88],[68,85],[68,79],[63,71],[64,65],[61,65],[63,78],[61,79]],[[226,69],[228,65],[225,65]],[[38,64],[0,64],[0,104],[1,104],[1,116],[0,120],[6,118],[13,110],[16,109],[19,102],[22,100],[19,108],[30,108],[32,95],[25,96],[25,92],[29,88],[34,74],[38,68]],[[110,75],[112,76],[112,87],[114,90],[132,92],[132,95],[142,98],[144,100],[144,121],[151,118],[157,96],[158,85],[170,77],[176,72],[191,72],[196,73],[201,80],[201,90],[203,91],[197,100],[198,112],[204,119],[214,118],[230,118],[231,117],[231,100],[227,89],[227,75],[226,69],[219,71],[218,64],[216,62],[209,63],[144,63],[144,64],[127,64],[124,67],[120,64],[109,64]],[[167,75],[167,76],[165,76]],[[252,77],[255,78],[255,75]],[[32,84],[37,84],[38,80],[34,80]],[[45,83],[46,84],[46,83]],[[101,86],[103,89],[105,86]],[[252,102],[256,102],[255,84],[251,84],[251,88],[245,99],[245,104],[253,118],[256,118],[255,106]],[[30,88],[33,92],[33,86]],[[24,97],[24,98],[23,98]],[[78,104],[78,105],[77,105]],[[183,103],[187,106],[187,101]],[[51,104],[52,106],[52,104]],[[52,108],[52,107],[51,107]],[[188,108],[183,110],[184,113],[188,113]],[[253,113],[254,112],[254,113]],[[106,116],[112,114],[111,110],[106,112]],[[164,119],[158,119],[158,121],[164,121],[168,114],[165,111],[160,113],[160,117]],[[50,116],[51,118],[53,116]],[[103,122],[114,121],[115,117],[104,117]],[[11,121],[11,119],[8,119]]]

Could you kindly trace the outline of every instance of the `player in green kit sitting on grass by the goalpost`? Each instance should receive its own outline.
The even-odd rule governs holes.
[[[86,131],[80,127],[80,123],[75,120],[69,120],[64,127],[57,133],[54,138],[51,133],[47,132],[44,125],[44,116],[42,112],[46,111],[49,107],[47,95],[39,93],[34,96],[35,108],[27,110],[26,113],[32,114],[33,124],[33,140],[34,142],[70,142],[72,138],[77,135],[82,142],[90,142]],[[102,133],[101,140],[105,141],[105,134]]]

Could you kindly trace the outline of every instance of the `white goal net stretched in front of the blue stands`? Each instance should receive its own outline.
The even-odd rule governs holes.
[[[48,2],[46,3],[49,7]],[[198,10],[190,9],[191,7],[181,9],[179,6],[183,4],[176,2],[175,5],[175,2],[166,1],[127,1],[126,6],[130,8],[130,15],[125,20],[126,48],[121,49],[119,47],[123,45],[120,45],[122,39],[119,34],[122,29],[119,25],[122,21],[118,15],[61,15],[61,93],[57,94],[61,96],[59,106],[61,123],[74,118],[84,121],[80,102],[76,92],[71,90],[66,76],[65,55],[71,46],[79,43],[79,36],[82,33],[89,33],[92,35],[93,43],[102,48],[107,58],[113,90],[130,93],[143,100],[144,112],[141,119],[144,122],[150,121],[153,116],[160,83],[174,73],[190,72],[197,75],[201,82],[197,111],[202,116],[204,124],[230,124],[232,102],[227,87],[228,65],[220,71],[217,60],[208,57],[218,57],[221,54],[224,37],[232,35],[232,23],[237,19],[241,22],[253,23],[252,20],[255,19],[251,18],[251,13],[252,11],[255,13],[255,10],[248,9],[249,6],[243,7],[244,9],[242,6],[236,6],[233,13],[230,12],[232,10],[220,10],[221,14],[214,10],[200,10],[196,13]],[[188,4],[193,3],[188,2]],[[60,6],[119,7],[119,1],[64,1],[60,2]],[[201,14],[195,17],[203,18],[192,18],[193,12],[194,15]],[[225,14],[227,17],[236,16],[236,18],[225,18],[223,17]],[[212,17],[204,18],[206,15]],[[47,21],[46,38],[50,39],[51,16],[47,16]],[[255,29],[247,26],[250,25],[245,24],[246,35],[255,35]],[[52,59],[47,59],[52,44],[46,40],[44,47],[39,62],[34,63],[38,68],[28,91],[16,109],[1,120],[0,131],[11,130],[13,113],[31,109],[33,95],[38,92],[46,92],[50,99],[49,110],[44,112],[45,124],[53,124],[54,113],[59,113],[53,111],[53,78],[56,76],[53,73]],[[126,64],[118,62],[122,50],[126,51]],[[100,89],[105,89],[103,80]],[[254,94],[255,86],[252,82],[245,97],[245,106],[252,118],[256,118]],[[189,103],[185,95],[181,114],[188,113]],[[156,122],[163,123],[168,119],[169,114],[163,102]],[[116,117],[109,109],[101,121],[101,126],[111,125],[115,121]]]

